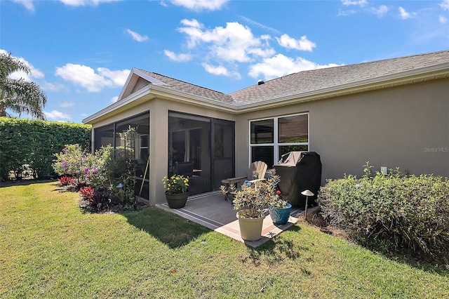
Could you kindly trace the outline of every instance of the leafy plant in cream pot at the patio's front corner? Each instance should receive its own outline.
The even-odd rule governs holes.
[[[272,177],[247,182],[241,186],[240,191],[235,192],[232,203],[234,210],[239,210],[236,217],[243,240],[257,241],[262,237],[262,224],[267,216],[268,204],[276,195],[278,181]]]

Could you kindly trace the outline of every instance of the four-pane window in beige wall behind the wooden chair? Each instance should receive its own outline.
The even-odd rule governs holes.
[[[309,114],[250,121],[250,160],[269,167],[283,154],[309,151]]]

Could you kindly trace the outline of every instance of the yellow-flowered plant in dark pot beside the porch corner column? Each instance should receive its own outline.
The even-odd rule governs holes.
[[[166,188],[166,200],[170,208],[182,208],[189,197],[189,178],[184,175],[164,176],[163,187]]]

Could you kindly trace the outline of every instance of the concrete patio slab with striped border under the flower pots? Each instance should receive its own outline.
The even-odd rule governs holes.
[[[156,204],[156,207],[180,215],[182,218],[199,223],[210,228],[210,230],[225,234],[227,237],[241,241],[251,247],[260,246],[284,230],[288,230],[289,227],[295,225],[300,215],[304,213],[300,208],[292,208],[290,218],[285,225],[274,225],[272,218],[268,215],[264,219],[262,238],[257,241],[245,241],[240,237],[236,211],[232,208],[232,204],[224,199],[220,191],[191,196],[187,199],[184,208],[172,209],[168,207],[168,204]]]

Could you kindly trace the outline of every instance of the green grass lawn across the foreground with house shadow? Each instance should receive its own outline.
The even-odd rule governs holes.
[[[0,188],[0,298],[140,297],[449,298],[449,270],[304,223],[254,250],[157,208],[83,213],[55,182]]]

